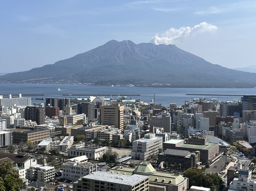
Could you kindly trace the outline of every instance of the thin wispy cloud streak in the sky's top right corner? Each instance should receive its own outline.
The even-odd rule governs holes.
[[[256,1],[249,0],[249,1],[234,2],[232,4],[226,4],[221,7],[212,6],[205,10],[195,11],[195,14],[210,15],[210,14],[226,13],[230,11],[245,10],[245,9],[252,9],[254,11],[255,8],[256,8]]]

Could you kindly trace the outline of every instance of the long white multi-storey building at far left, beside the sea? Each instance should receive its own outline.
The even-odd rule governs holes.
[[[2,95],[0,95],[0,107],[11,107],[13,105],[16,106],[31,106],[31,98],[23,98],[21,94],[19,94],[19,97],[13,98],[11,94],[8,96],[8,98],[3,98]]]

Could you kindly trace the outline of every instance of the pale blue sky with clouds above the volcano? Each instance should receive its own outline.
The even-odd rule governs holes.
[[[0,1],[0,72],[54,64],[109,40],[175,44],[225,67],[256,64],[254,0]]]

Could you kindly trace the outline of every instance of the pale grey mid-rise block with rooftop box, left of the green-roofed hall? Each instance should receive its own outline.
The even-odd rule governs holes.
[[[149,156],[156,155],[163,149],[163,138],[156,137],[155,133],[148,133],[145,138],[132,142],[132,159],[147,160]]]

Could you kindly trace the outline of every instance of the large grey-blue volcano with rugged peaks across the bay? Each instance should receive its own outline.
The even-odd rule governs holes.
[[[162,87],[254,87],[255,81],[254,73],[211,64],[175,45],[135,44],[130,40],[110,40],[54,64],[0,76],[2,83],[147,87],[152,84],[162,84]]]

